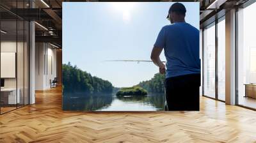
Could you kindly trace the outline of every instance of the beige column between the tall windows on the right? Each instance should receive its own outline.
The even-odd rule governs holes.
[[[226,83],[225,101],[229,105],[236,104],[236,10],[226,12]]]

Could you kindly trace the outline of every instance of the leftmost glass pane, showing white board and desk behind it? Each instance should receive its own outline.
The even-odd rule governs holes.
[[[17,108],[17,21],[1,21],[1,113]],[[19,94],[18,94],[19,95]]]

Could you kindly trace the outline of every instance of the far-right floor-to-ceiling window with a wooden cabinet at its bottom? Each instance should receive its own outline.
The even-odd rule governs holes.
[[[256,3],[237,11],[238,104],[256,109]]]

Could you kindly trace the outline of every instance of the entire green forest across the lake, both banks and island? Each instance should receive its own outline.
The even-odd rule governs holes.
[[[145,80],[132,87],[114,87],[108,80],[92,76],[70,62],[62,65],[63,95],[76,94],[113,94],[116,96],[147,95],[148,93],[164,93],[164,75],[156,73],[150,80]],[[120,92],[119,92],[120,91]],[[118,93],[119,92],[119,93]],[[117,95],[118,93],[118,95]],[[67,94],[72,96],[72,94]]]

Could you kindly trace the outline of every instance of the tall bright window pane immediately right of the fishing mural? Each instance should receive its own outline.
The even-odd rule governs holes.
[[[215,98],[215,23],[204,29],[204,96]]]

